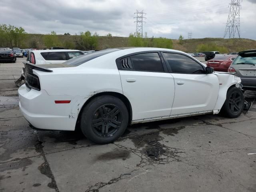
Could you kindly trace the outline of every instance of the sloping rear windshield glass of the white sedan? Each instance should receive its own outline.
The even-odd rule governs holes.
[[[106,50],[102,50],[102,51],[96,51],[96,52],[93,52],[93,53],[90,53],[90,54],[85,54],[85,55],[81,55],[81,56],[78,56],[76,58],[73,58],[73,59],[70,59],[66,62],[64,62],[63,64],[66,64],[66,65],[72,65],[72,66],[79,66],[85,62],[88,62],[92,59],[95,59],[97,57],[100,57],[102,55],[106,55],[108,53],[112,53],[112,52],[115,52],[115,51],[118,51],[120,49],[106,49]]]

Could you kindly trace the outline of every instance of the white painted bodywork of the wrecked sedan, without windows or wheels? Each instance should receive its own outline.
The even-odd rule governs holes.
[[[132,123],[217,114],[226,100],[228,88],[239,84],[240,78],[231,74],[118,70],[116,58],[152,50],[183,53],[162,48],[130,48],[100,56],[77,67],[52,68],[53,72],[33,70],[40,80],[41,90],[21,86],[18,90],[20,110],[36,128],[74,130],[78,115],[89,98],[100,92],[116,92],[128,98],[132,106]],[[130,80],[127,82],[127,79]],[[176,84],[178,81],[184,84]],[[55,104],[55,100],[71,102]]]

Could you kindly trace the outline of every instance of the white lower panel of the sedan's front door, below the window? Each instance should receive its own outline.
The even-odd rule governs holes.
[[[175,97],[170,115],[213,110],[219,93],[214,74],[175,74]]]

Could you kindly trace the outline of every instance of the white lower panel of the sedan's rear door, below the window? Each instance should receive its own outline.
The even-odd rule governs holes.
[[[168,116],[174,99],[174,79],[169,73],[120,70],[124,96],[132,105],[134,120]],[[127,79],[135,82],[127,82]]]

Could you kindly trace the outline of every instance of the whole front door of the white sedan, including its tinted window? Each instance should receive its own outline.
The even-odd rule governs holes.
[[[174,77],[175,97],[170,115],[210,112],[219,93],[215,74],[205,74],[205,68],[184,54],[162,52]]]

